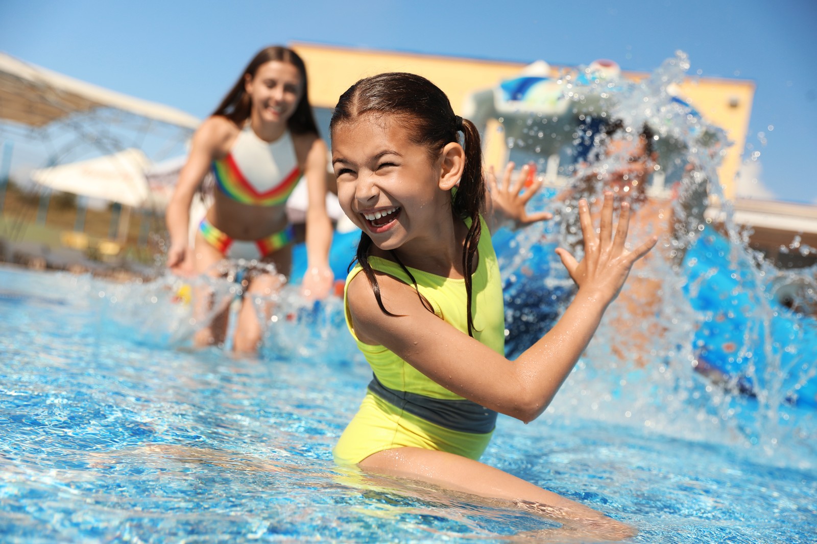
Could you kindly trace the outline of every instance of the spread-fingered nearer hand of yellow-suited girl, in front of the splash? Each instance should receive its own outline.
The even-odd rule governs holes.
[[[612,192],[605,192],[598,234],[593,228],[590,209],[584,199],[578,201],[578,215],[584,238],[584,259],[578,263],[568,250],[562,248],[557,249],[556,253],[579,290],[592,290],[594,297],[610,303],[618,296],[624,281],[627,281],[633,263],[653,249],[658,237],[651,237],[636,250],[627,251],[625,245],[630,224],[630,205],[622,203],[614,237]]]

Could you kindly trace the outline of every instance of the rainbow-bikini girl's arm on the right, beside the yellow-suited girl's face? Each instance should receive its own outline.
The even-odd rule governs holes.
[[[332,289],[335,279],[329,267],[329,247],[332,245],[332,220],[326,210],[327,155],[323,139],[307,140],[306,191],[306,273],[303,291],[307,297],[321,299]]]

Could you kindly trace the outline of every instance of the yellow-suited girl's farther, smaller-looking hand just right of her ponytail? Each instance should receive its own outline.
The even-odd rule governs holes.
[[[502,181],[499,184],[493,166],[488,167],[488,172],[485,175],[490,193],[489,211],[493,213],[494,223],[498,226],[510,223],[511,228],[520,228],[530,223],[551,219],[553,216],[547,211],[529,214],[525,210],[528,201],[542,188],[542,179],[535,175],[536,166],[533,163],[522,166],[516,182],[511,184],[514,166],[513,162],[507,163],[505,172],[502,175]],[[525,187],[525,183],[529,179],[533,181]],[[522,192],[523,188],[525,192]]]

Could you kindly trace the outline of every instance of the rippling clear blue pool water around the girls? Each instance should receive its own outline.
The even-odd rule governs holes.
[[[337,301],[235,357],[158,334],[184,308],[136,308],[168,285],[0,268],[2,542],[503,542],[551,525],[333,465],[369,378]],[[500,416],[483,461],[635,525],[634,542],[815,542],[813,414],[758,427],[763,448],[703,378],[655,367],[583,360],[537,421]]]

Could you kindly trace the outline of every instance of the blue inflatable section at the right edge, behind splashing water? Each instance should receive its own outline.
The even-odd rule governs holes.
[[[779,295],[788,290],[775,280],[751,285],[757,281],[730,255],[729,241],[707,228],[685,258],[684,292],[700,316],[694,348],[704,373],[743,394],[780,391],[788,404],[817,408],[817,320],[792,311]]]

